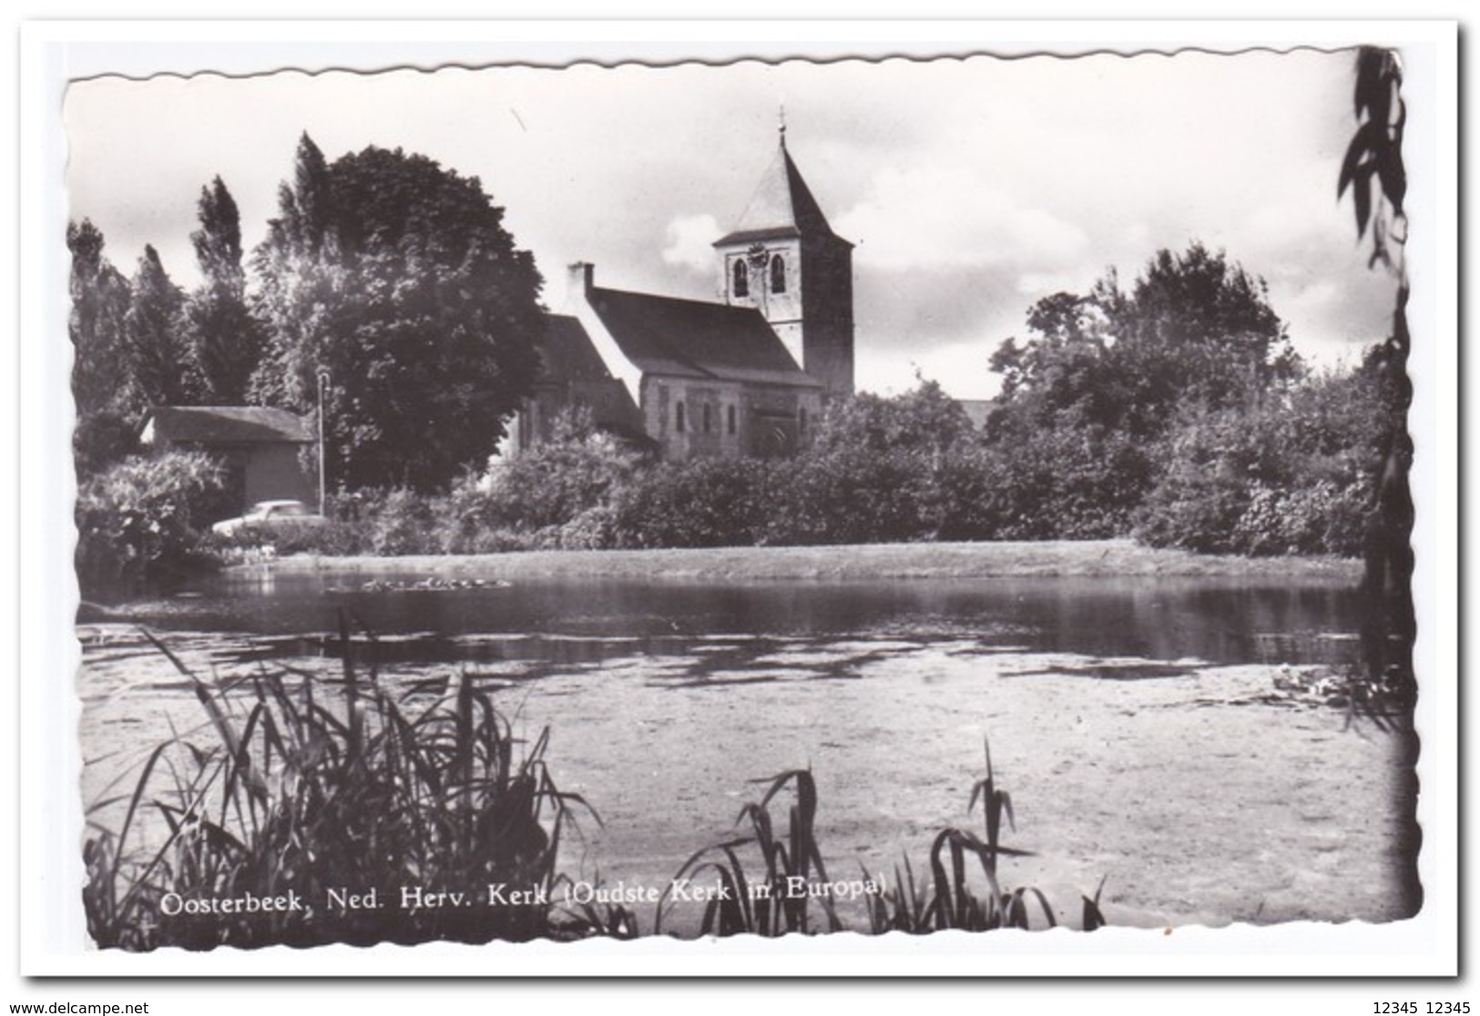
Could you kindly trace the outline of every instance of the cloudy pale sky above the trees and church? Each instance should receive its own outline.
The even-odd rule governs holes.
[[[330,160],[404,148],[480,177],[552,311],[574,260],[598,285],[718,299],[710,244],[784,109],[787,149],[855,244],[863,390],[919,376],[987,398],[987,359],[1036,300],[1111,268],[1129,284],[1193,241],[1262,277],[1295,348],[1338,365],[1382,339],[1393,306],[1336,200],[1351,67],[1296,50],[104,77],[67,92],[65,186],[121,271],[148,243],[191,285],[213,176],[250,247],[303,132]]]

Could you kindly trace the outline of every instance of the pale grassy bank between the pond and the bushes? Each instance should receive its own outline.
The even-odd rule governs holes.
[[[262,568],[263,565],[247,565]],[[530,550],[503,555],[406,558],[295,556],[278,572],[426,572],[481,580],[855,580],[999,577],[1249,577],[1356,583],[1362,562],[1342,558],[1239,558],[1144,547],[1132,540],[1018,543],[900,543],[836,547],[715,547],[681,550]]]

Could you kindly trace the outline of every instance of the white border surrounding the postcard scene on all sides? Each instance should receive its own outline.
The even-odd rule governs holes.
[[[445,40],[459,40],[454,43]],[[1082,52],[1203,46],[1403,49],[1410,121],[1410,427],[1418,455],[1416,666],[1425,905],[1410,921],[1196,929],[1106,929],[1094,936],[998,933],[924,938],[829,935],[361,951],[323,946],[209,954],[104,954],[80,908],[77,660],[71,620],[73,478],[61,243],[65,80],[281,67],[377,70],[450,62],[673,61],[959,52]],[[30,22],[21,31],[19,695],[21,973],[27,976],[1434,976],[1458,972],[1458,70],[1453,22]],[[1360,779],[1362,773],[1353,773]],[[50,991],[53,997],[68,992]],[[71,992],[75,994],[75,992]],[[129,992],[115,992],[118,1000]],[[1369,992],[1387,998],[1394,992]],[[1418,997],[1412,991],[1403,997]],[[1424,998],[1452,992],[1421,992]],[[1362,1012],[1362,1010],[1353,1010]]]

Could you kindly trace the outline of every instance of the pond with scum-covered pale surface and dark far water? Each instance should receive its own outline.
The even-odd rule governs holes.
[[[585,877],[665,884],[734,834],[753,781],[795,768],[815,773],[835,870],[919,868],[935,830],[980,824],[990,742],[1033,853],[1018,884],[1061,912],[1101,878],[1128,924],[1416,907],[1410,745],[1274,694],[1356,660],[1347,584],[477,581],[252,568],[84,617],[84,797],[203,726],[136,623],[218,682],[278,661],[329,683],[343,612],[380,680],[475,680],[524,736],[551,731],[556,782],[602,819],[570,859]]]

